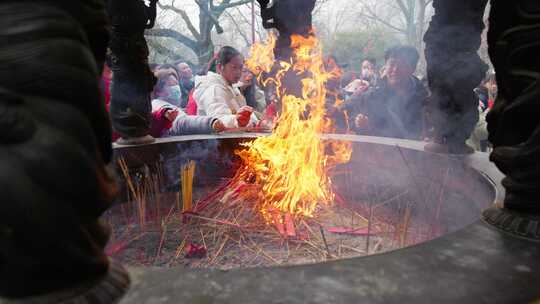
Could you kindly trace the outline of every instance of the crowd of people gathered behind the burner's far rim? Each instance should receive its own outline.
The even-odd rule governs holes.
[[[385,52],[379,69],[366,58],[359,73],[344,73],[337,83],[341,103],[328,103],[337,132],[425,140],[433,127],[427,114],[428,88],[415,76],[418,51],[396,46]],[[225,46],[199,75],[186,62],[150,64],[157,78],[152,92],[153,137],[218,133],[256,128],[271,130],[278,115],[276,94],[258,83],[244,66],[244,57]],[[110,70],[105,69],[103,88],[110,99]],[[485,115],[496,95],[494,73],[475,89],[479,122],[468,144],[487,148]],[[334,98],[335,99],[335,98]]]

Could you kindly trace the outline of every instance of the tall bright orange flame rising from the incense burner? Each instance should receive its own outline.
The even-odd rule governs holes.
[[[277,64],[275,41],[271,37],[266,44],[254,45],[246,65],[259,77],[263,72],[274,75],[264,82],[276,85],[281,114],[270,136],[257,138],[244,144],[246,149],[236,151],[243,162],[237,177],[262,187],[260,211],[269,223],[276,211],[312,217],[318,204],[331,204],[334,194],[328,171],[348,162],[352,151],[347,143],[321,139],[332,125],[326,117],[326,85],[340,74],[339,69],[334,65],[327,70],[329,64],[325,64],[314,35],[293,36],[293,58]],[[284,76],[290,72],[302,77],[301,97],[284,93]]]

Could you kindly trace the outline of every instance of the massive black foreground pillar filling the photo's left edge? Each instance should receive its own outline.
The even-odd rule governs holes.
[[[117,299],[129,283],[99,221],[117,193],[97,81],[106,21],[98,0],[0,4],[0,302],[109,288],[113,272]]]

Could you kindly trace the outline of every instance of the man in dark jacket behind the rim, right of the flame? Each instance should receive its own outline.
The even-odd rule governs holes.
[[[427,90],[413,73],[418,51],[397,46],[386,51],[385,74],[376,87],[358,86],[340,107],[360,134],[420,140]]]

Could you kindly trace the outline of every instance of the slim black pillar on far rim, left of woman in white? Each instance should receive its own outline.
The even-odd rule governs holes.
[[[148,46],[144,31],[156,19],[156,2],[146,6],[143,0],[108,0],[111,19],[109,44],[113,81],[110,113],[118,144],[153,142],[150,136],[150,94],[156,83],[148,66]]]

